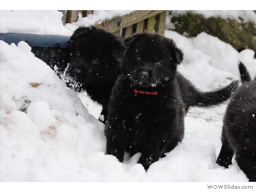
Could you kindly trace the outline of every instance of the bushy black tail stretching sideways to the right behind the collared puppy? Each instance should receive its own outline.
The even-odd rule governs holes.
[[[194,102],[190,103],[190,107],[211,107],[218,106],[222,102],[228,100],[238,86],[238,81],[233,81],[229,85],[221,89],[202,92],[195,90]]]

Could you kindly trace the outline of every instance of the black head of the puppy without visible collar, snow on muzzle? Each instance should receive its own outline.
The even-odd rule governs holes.
[[[83,84],[116,78],[125,52],[118,37],[95,27],[81,27],[71,36],[70,45],[71,59],[66,70],[69,77]]]

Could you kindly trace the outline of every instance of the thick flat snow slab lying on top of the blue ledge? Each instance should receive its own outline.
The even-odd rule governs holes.
[[[59,11],[0,11],[0,33],[72,35]]]

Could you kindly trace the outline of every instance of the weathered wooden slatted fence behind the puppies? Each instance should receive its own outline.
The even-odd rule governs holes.
[[[77,21],[79,12],[82,17],[93,13],[93,11],[66,11],[66,23]],[[163,35],[165,17],[166,11],[133,11],[122,17],[104,20],[100,24],[95,24],[95,26],[122,37],[129,37],[132,34],[146,31]]]

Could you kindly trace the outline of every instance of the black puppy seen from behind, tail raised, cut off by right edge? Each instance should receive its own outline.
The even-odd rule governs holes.
[[[217,164],[228,168],[234,153],[249,181],[256,181],[256,77],[239,62],[242,86],[231,97],[223,120],[222,147]]]

